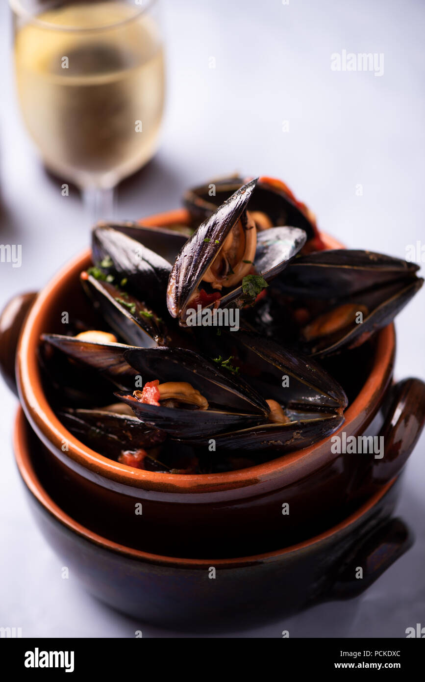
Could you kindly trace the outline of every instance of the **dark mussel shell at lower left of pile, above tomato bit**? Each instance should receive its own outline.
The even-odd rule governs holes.
[[[164,432],[142,424],[134,415],[108,409],[67,409],[58,417],[84,445],[114,459],[123,450],[151,449],[166,440]]]

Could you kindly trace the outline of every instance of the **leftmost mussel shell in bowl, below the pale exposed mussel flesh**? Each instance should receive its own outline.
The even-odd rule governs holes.
[[[68,357],[98,370],[102,376],[112,381],[119,389],[129,389],[134,385],[134,378],[138,373],[124,357],[124,352],[134,346],[121,343],[84,341],[74,336],[62,336],[61,334],[43,334],[42,340],[59,349]]]

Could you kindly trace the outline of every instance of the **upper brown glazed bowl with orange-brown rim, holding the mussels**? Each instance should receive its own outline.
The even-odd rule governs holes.
[[[188,219],[187,211],[170,211],[143,224],[170,226]],[[340,246],[323,236],[328,248]],[[60,333],[64,310],[70,318],[91,312],[79,282],[80,271],[89,265],[86,250],[37,295],[22,326],[16,371],[22,407],[45,446],[42,456],[63,482],[64,494],[86,501],[91,527],[101,535],[168,556],[232,557],[277,550],[345,518],[403,468],[424,426],[425,385],[408,379],[392,387],[393,325],[375,336],[362,385],[337,432],[347,436],[379,432],[385,437],[382,459],[373,454],[334,454],[330,439],[324,439],[239,471],[176,475],[133,469],[86,447],[65,429],[46,400],[37,346],[42,332]],[[22,305],[15,306],[20,313],[16,322],[11,308],[13,301],[6,308],[7,321],[4,314],[0,319],[0,346],[5,339],[14,351]],[[10,374],[10,358],[0,360],[3,372]],[[358,365],[356,375],[363,367]],[[142,514],[135,513],[138,503]],[[289,514],[282,513],[283,503],[289,503]]]

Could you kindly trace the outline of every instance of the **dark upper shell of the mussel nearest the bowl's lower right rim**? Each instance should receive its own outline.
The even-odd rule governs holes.
[[[342,412],[347,406],[343,388],[313,359],[247,331],[227,333],[225,340],[235,344],[236,351],[228,350],[237,356],[242,376],[264,398],[302,411]]]

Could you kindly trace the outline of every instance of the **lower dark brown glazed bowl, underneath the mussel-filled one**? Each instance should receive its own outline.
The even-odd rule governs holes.
[[[84,526],[78,499],[62,506],[39,447],[19,410],[16,462],[44,537],[91,594],[139,622],[199,632],[281,619],[362,593],[411,545],[405,524],[390,518],[400,482],[393,480],[339,524],[274,552],[176,559],[135,550]]]

